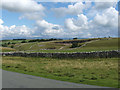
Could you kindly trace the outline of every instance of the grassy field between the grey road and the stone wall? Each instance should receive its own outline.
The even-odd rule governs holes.
[[[53,59],[3,56],[2,68],[61,81],[118,88],[118,58]]]

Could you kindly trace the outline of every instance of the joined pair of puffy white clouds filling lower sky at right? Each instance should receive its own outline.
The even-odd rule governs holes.
[[[67,19],[65,27],[71,36],[74,32],[74,36],[77,37],[115,37],[118,35],[118,11],[109,7],[102,13],[97,12],[92,20],[88,20],[86,15],[80,14],[77,19]]]

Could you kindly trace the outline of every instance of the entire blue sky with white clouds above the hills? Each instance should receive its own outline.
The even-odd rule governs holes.
[[[0,3],[1,39],[118,37],[117,2]]]

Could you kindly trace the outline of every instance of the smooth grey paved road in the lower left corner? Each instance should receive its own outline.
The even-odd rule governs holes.
[[[104,87],[57,81],[2,70],[2,88],[104,88]]]

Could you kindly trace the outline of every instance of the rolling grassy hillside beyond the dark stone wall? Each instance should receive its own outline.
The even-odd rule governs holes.
[[[6,40],[2,44],[7,47],[2,48],[3,52],[26,51],[26,52],[88,52],[117,50],[118,38],[99,38],[99,39],[77,39],[77,40],[54,40],[45,42],[22,43],[22,40]],[[85,41],[85,42],[83,42]],[[79,47],[71,48],[71,42],[79,42]],[[12,48],[11,48],[12,47]]]

